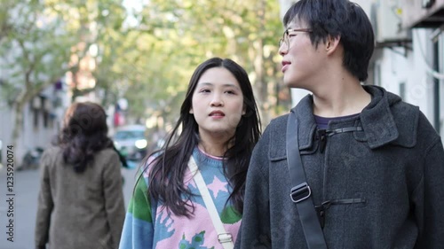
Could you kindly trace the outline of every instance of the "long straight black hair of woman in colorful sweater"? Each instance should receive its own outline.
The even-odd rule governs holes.
[[[163,205],[176,215],[189,217],[194,211],[188,200],[192,193],[184,185],[184,177],[189,158],[199,143],[199,127],[190,114],[194,89],[202,74],[213,67],[224,67],[230,71],[242,89],[243,104],[246,113],[242,115],[234,137],[226,144],[227,151],[224,158],[224,173],[233,191],[228,200],[232,200],[235,210],[242,214],[243,196],[247,169],[250,164],[251,152],[261,135],[258,106],[253,96],[253,89],[248,74],[231,59],[210,58],[198,66],[188,84],[185,100],[180,108],[178,122],[170,133],[167,142],[159,151],[152,152],[142,162],[144,171],[149,172],[148,194],[156,200],[161,200]],[[179,132],[179,128],[182,131]],[[228,144],[234,144],[228,147]],[[156,159],[148,165],[147,160],[151,156]],[[147,169],[149,167],[149,170]],[[138,181],[140,180],[139,176]],[[186,198],[183,199],[182,195]]]

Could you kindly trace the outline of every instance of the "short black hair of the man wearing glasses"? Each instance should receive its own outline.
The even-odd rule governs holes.
[[[367,80],[375,35],[360,5],[348,0],[300,0],[285,14],[284,26],[288,27],[295,19],[313,29],[310,39],[315,47],[326,42],[329,35],[340,37],[343,65],[361,82]]]

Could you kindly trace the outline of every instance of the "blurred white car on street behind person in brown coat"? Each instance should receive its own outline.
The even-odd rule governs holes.
[[[113,136],[115,149],[126,160],[142,160],[147,155],[147,128],[143,125],[127,125],[117,128]]]

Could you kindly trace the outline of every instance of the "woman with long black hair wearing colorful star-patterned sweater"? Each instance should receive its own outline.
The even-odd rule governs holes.
[[[230,248],[259,136],[258,107],[242,66],[222,58],[203,62],[175,128],[142,164],[120,248]]]

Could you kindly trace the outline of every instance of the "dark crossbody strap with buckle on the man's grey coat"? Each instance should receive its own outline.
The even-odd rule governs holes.
[[[289,113],[287,122],[287,162],[289,164],[289,177],[294,186],[291,188],[290,198],[296,203],[308,248],[327,249],[321,224],[314,209],[312,192],[305,180],[297,137],[297,118],[292,111]]]

